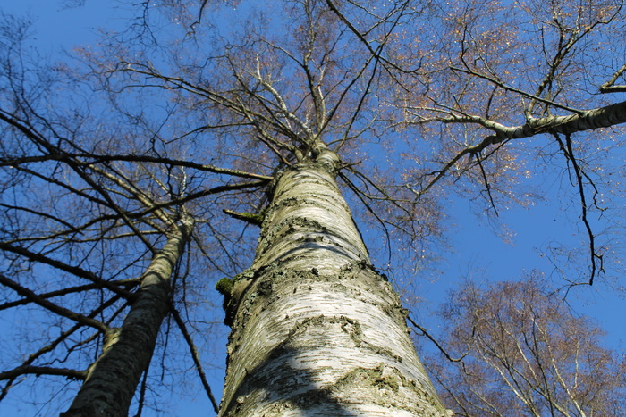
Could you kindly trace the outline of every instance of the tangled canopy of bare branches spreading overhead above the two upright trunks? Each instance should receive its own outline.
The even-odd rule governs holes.
[[[120,4],[127,21],[55,62],[2,16],[0,401],[23,385],[66,406],[184,236],[133,406],[198,376],[216,408],[214,285],[254,258],[276,174],[326,149],[397,285],[444,258],[454,199],[495,219],[557,197],[579,228],[551,254],[560,285],[621,288],[622,0]]]

